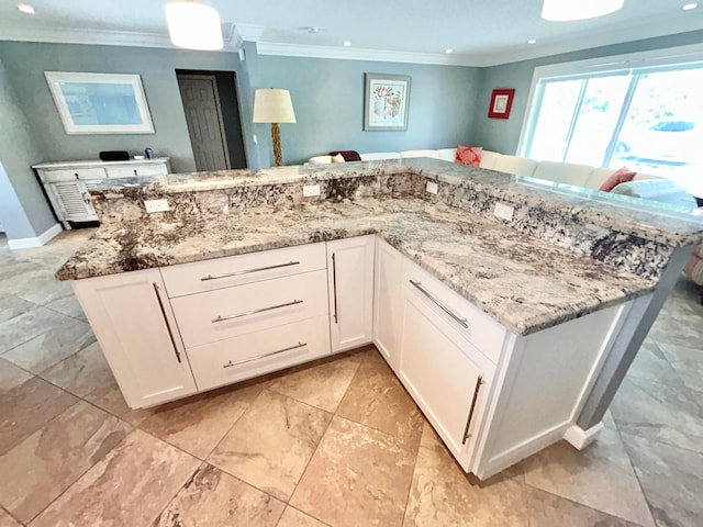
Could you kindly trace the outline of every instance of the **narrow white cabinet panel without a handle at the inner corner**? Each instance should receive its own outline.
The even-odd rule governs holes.
[[[403,324],[403,258],[386,242],[377,242],[373,343],[393,370],[398,369]]]

